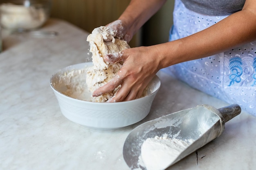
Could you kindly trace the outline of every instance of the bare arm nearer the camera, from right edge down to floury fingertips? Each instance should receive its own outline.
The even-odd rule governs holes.
[[[256,40],[256,1],[246,0],[242,11],[188,37],[149,47],[123,51],[118,76],[94,92],[94,96],[121,85],[112,101],[139,98],[158,70],[193,59],[218,54]],[[108,56],[105,57],[108,60]],[[110,102],[112,102],[110,101]]]

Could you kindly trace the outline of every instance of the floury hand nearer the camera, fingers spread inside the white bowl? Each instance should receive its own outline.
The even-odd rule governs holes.
[[[108,102],[128,101],[141,97],[144,89],[159,70],[159,54],[154,48],[137,47],[116,54],[107,54],[104,59],[109,63],[124,61],[122,68],[110,82],[97,89],[93,96],[121,88]]]

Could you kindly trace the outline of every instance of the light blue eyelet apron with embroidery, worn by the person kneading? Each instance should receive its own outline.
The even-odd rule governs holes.
[[[175,1],[169,41],[202,31],[227,16],[208,16],[186,9]],[[235,35],[234,35],[235,36]],[[196,42],[195,42],[196,43]],[[191,87],[238,104],[256,116],[256,41],[210,57],[162,69]]]

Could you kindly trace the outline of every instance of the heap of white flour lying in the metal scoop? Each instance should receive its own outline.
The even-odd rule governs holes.
[[[148,138],[141,146],[141,159],[147,170],[164,170],[175,161],[191,142],[162,137]]]

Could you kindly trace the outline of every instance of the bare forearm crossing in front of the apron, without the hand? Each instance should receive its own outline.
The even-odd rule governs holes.
[[[252,1],[251,1],[252,2]],[[255,5],[254,5],[255,7]],[[159,68],[224,52],[256,39],[256,13],[247,8],[191,36],[159,44]]]

